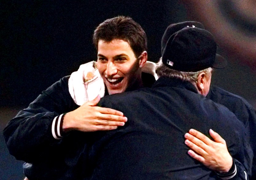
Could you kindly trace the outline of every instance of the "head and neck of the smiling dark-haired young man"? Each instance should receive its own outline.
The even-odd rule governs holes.
[[[155,81],[148,73],[142,73],[148,64],[146,34],[139,24],[128,21],[131,19],[122,16],[109,19],[94,31],[97,68],[108,94],[149,87]],[[155,69],[151,70],[154,74]]]

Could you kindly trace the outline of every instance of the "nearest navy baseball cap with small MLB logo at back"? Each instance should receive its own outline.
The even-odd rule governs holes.
[[[162,62],[170,69],[197,72],[209,67],[223,69],[226,59],[216,54],[217,43],[207,30],[185,27],[167,40]]]

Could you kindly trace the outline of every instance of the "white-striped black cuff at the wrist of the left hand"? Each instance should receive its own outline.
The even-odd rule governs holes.
[[[65,114],[61,114],[60,116],[56,116],[53,119],[52,135],[55,139],[61,139],[62,138],[62,124],[63,124],[64,115]]]

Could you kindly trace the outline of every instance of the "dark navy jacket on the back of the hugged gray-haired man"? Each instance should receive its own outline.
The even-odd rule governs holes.
[[[226,107],[199,95],[191,83],[162,77],[152,88],[108,96],[100,105],[124,112],[128,122],[93,144],[92,180],[217,178],[187,155],[184,134],[191,128],[204,134],[215,130],[231,156],[251,168],[243,124]]]

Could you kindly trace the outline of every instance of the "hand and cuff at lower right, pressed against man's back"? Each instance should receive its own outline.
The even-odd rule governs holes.
[[[228,152],[226,141],[212,129],[209,133],[214,141],[195,129],[185,134],[185,144],[191,148],[188,154],[216,171],[219,178],[248,179],[250,170]]]

